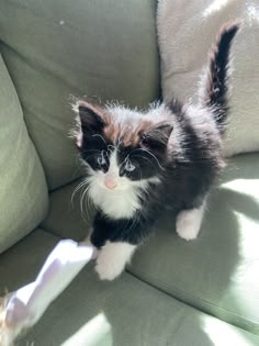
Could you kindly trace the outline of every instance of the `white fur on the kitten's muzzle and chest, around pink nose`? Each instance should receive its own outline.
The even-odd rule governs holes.
[[[112,219],[130,219],[136,210],[140,209],[139,196],[147,189],[149,182],[158,183],[158,178],[133,181],[126,177],[120,177],[120,167],[116,160],[116,150],[110,157],[110,168],[106,174],[89,169],[90,182],[89,196],[93,203],[103,213]],[[111,175],[116,182],[116,188],[105,187],[105,176]]]

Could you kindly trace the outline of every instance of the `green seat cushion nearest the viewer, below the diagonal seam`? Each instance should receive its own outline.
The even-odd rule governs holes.
[[[34,279],[57,237],[37,230],[0,256],[0,291]],[[10,275],[11,274],[11,275]],[[14,275],[15,274],[15,275]],[[258,346],[256,335],[213,319],[124,274],[99,281],[88,265],[20,346]]]

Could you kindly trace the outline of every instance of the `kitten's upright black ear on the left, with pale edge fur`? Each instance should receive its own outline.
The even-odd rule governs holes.
[[[75,109],[78,114],[76,142],[77,146],[81,147],[83,136],[100,134],[105,123],[102,110],[91,103],[78,101]]]

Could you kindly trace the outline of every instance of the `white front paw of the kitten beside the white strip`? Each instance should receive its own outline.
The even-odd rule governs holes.
[[[97,258],[95,270],[101,280],[113,280],[124,270],[136,249],[136,245],[117,242],[106,244],[101,248]]]

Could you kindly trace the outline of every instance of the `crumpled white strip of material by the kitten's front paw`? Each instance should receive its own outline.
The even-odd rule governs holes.
[[[33,326],[47,306],[94,256],[94,248],[74,241],[60,241],[47,257],[36,280],[15,291],[5,309],[9,345],[22,330]]]

